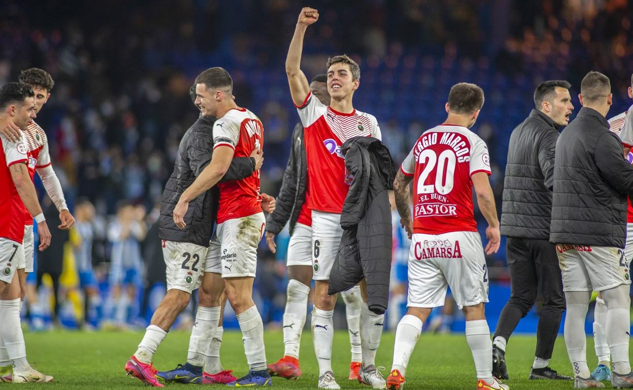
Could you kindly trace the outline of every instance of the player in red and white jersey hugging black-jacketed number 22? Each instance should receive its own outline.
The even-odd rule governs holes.
[[[185,192],[180,195],[173,211],[173,221],[185,228],[183,216],[189,202],[200,193],[215,186],[229,168],[233,157],[248,157],[256,150],[263,150],[263,125],[248,109],[235,104],[233,80],[223,68],[210,68],[196,78],[197,106],[203,114],[218,118],[213,125],[213,157]],[[220,183],[218,226],[211,242],[210,254],[205,264],[206,274],[222,276],[216,279],[210,296],[201,296],[211,302],[208,308],[205,331],[215,333],[220,318],[222,284],[229,303],[239,322],[244,340],[244,351],[249,372],[229,386],[270,386],[272,381],[266,369],[264,326],[260,313],[253,302],[253,280],[257,266],[257,246],[266,226],[261,210],[260,172],[242,180]],[[224,283],[222,283],[224,281]],[[206,288],[201,289],[201,293]],[[202,334],[201,339],[207,337]],[[194,337],[192,334],[192,340]],[[191,344],[190,344],[191,347]]]

